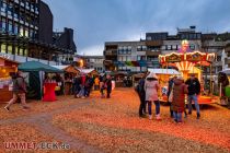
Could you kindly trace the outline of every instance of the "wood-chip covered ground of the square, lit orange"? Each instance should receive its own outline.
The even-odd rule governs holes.
[[[0,143],[57,141],[70,144],[71,150],[65,152],[87,153],[230,152],[230,111],[215,104],[202,108],[199,120],[194,111],[176,125],[163,105],[161,121],[139,118],[139,99],[133,89],[117,89],[110,99],[102,99],[99,92],[85,99],[58,99],[30,103],[28,111],[15,104],[5,113],[0,105]]]

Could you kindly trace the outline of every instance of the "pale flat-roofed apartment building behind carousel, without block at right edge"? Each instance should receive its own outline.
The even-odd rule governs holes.
[[[191,50],[202,48],[202,33],[197,33],[195,26],[177,28],[176,35],[169,35],[166,32],[146,33],[145,40],[105,43],[105,68],[131,72],[160,68],[159,55],[177,51],[183,39],[189,40]]]

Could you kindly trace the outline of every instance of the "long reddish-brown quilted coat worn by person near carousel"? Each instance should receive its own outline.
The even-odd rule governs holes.
[[[187,86],[183,80],[175,79],[173,86],[172,110],[183,113],[185,108],[185,94],[187,94]]]

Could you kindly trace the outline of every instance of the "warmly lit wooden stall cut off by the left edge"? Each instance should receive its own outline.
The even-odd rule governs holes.
[[[19,62],[0,57],[0,103],[10,101],[13,97],[11,91],[11,74],[18,71]]]

